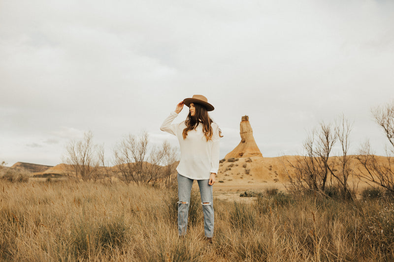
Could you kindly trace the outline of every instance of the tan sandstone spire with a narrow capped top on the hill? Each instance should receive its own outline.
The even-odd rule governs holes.
[[[231,157],[238,158],[251,156],[263,157],[255,139],[253,138],[253,130],[249,123],[249,116],[242,116],[239,128],[241,142],[230,153],[228,153],[225,158],[229,159]]]

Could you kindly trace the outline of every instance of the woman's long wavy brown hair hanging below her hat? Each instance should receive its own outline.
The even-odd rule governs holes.
[[[186,117],[186,128],[183,129],[183,139],[186,139],[188,136],[188,132],[190,130],[196,129],[197,126],[201,123],[202,124],[202,132],[206,138],[206,141],[212,140],[213,130],[212,130],[212,119],[208,115],[208,111],[205,109],[204,106],[194,103],[195,107],[195,114],[192,116],[189,112],[189,115]],[[222,136],[222,131],[219,128],[219,136]]]

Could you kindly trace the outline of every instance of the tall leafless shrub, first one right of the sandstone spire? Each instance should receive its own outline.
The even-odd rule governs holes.
[[[297,157],[295,163],[288,161],[295,172],[295,175],[291,175],[287,171],[291,191],[314,191],[328,196],[325,191],[329,180],[331,186],[340,188],[343,198],[354,198],[354,190],[351,190],[348,184],[348,177],[353,174],[350,169],[351,159],[348,156],[351,129],[349,120],[342,116],[334,127],[321,123],[320,128],[308,136],[304,142],[306,155]],[[330,158],[332,146],[336,141],[340,143],[342,156]],[[340,163],[339,170],[334,169],[335,159]]]

